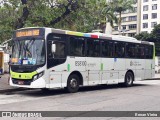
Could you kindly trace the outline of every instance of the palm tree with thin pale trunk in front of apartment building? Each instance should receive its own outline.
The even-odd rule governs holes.
[[[110,2],[110,6],[112,9],[118,14],[118,29],[119,31],[122,30],[122,13],[126,11],[133,11],[134,7],[134,0],[112,0]]]

